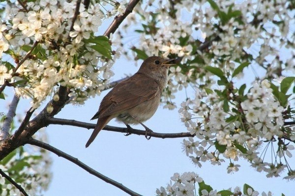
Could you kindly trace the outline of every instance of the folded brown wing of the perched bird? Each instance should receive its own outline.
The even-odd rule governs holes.
[[[101,101],[99,111],[92,119],[111,116],[128,110],[156,97],[160,92],[158,83],[142,73],[135,73],[129,79],[115,86]]]

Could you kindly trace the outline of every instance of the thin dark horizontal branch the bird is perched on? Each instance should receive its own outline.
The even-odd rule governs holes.
[[[58,119],[58,118],[47,118],[45,121],[48,122],[48,124],[61,124],[61,125],[70,125],[70,126],[78,126],[83,127],[87,129],[92,129],[95,127],[95,124],[92,123],[84,123],[80,121],[75,120],[66,120],[66,119]],[[136,135],[146,135],[146,131],[134,129],[134,128],[122,128],[122,127],[116,127],[116,126],[109,126],[106,125],[103,130],[107,131],[114,131],[114,132],[120,132],[120,133],[133,133]],[[154,138],[186,138],[186,137],[194,137],[194,135],[191,135],[189,132],[182,132],[182,133],[157,133],[157,132],[148,132],[148,136],[154,137]]]

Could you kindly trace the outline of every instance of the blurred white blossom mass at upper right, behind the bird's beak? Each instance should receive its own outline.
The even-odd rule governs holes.
[[[203,69],[207,65],[223,67],[232,74],[237,59],[252,62],[252,66],[266,72],[261,77],[267,78],[280,76],[282,67],[294,71],[294,35],[290,27],[295,19],[289,5],[288,0],[149,1],[136,8],[137,14],[128,18],[125,27],[133,24],[140,33],[138,41],[130,44],[130,48],[137,49],[133,55],[182,57],[182,64],[170,70],[162,98],[165,107],[174,109],[175,93],[183,87],[194,84],[196,88],[210,88],[210,73]],[[118,36],[126,45],[130,43],[127,33],[121,31]],[[283,55],[282,49],[289,54]],[[130,56],[130,52],[125,53]]]

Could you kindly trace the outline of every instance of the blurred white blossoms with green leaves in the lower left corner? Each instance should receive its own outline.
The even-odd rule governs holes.
[[[44,131],[34,136],[36,139],[47,141]],[[35,148],[20,148],[5,157],[0,169],[22,186],[29,195],[42,195],[47,190],[52,179],[50,171],[52,159],[49,151]],[[18,188],[4,177],[0,177],[0,196],[23,196]]]

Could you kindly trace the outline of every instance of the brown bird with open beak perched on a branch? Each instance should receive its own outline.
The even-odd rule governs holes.
[[[157,56],[148,57],[138,72],[127,80],[117,84],[101,101],[98,112],[92,117],[97,124],[86,144],[93,142],[101,129],[112,119],[117,118],[128,128],[129,124],[142,124],[156,112],[161,93],[168,81],[168,69],[175,65],[175,59],[164,59]]]

